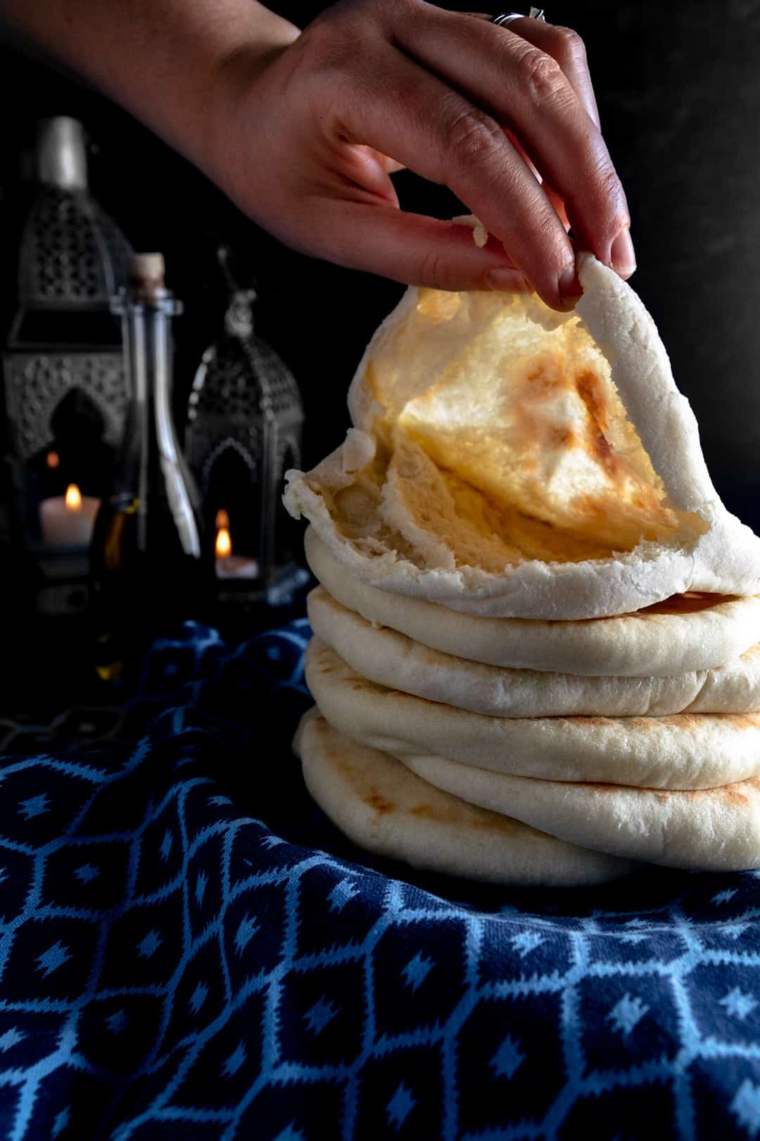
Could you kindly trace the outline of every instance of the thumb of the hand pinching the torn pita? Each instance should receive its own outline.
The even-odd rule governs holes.
[[[338,265],[431,289],[524,292],[530,288],[509,266],[500,243],[490,241],[477,249],[468,226],[382,203],[321,200],[319,213],[325,253]]]

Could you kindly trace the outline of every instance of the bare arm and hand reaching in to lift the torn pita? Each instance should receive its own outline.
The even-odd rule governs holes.
[[[581,41],[423,0],[343,0],[301,34],[253,0],[0,0],[287,244],[397,281],[578,293],[580,242],[635,268]],[[399,210],[406,165],[492,238]],[[539,171],[544,183],[534,177]]]

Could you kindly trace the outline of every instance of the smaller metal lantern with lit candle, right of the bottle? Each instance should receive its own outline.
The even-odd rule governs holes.
[[[303,405],[285,363],[254,332],[255,292],[238,288],[226,250],[219,260],[229,304],[193,381],[186,453],[215,535],[220,598],[273,605],[308,577],[281,505],[285,471],[301,463]]]

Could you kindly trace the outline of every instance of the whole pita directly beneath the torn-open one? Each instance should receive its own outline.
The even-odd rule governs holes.
[[[735,661],[760,642],[760,598],[681,596],[636,614],[586,622],[483,618],[356,578],[307,528],[307,559],[329,594],[368,622],[488,665],[587,677],[668,677]]]

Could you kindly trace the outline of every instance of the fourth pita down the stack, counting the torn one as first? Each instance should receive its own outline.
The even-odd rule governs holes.
[[[760,714],[485,717],[377,686],[319,638],[307,649],[305,673],[334,728],[395,756],[432,754],[516,776],[648,788],[711,788],[760,775]]]

